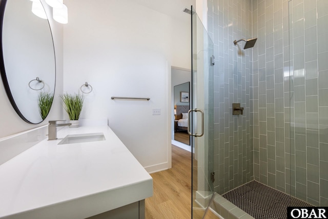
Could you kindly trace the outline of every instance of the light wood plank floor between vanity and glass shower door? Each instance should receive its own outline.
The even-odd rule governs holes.
[[[191,152],[172,145],[172,168],[151,176],[154,193],[146,198],[146,219],[190,219]]]

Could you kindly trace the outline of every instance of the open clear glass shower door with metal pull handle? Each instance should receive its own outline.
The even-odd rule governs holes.
[[[214,56],[213,42],[193,7],[192,95],[189,134],[192,136],[192,218],[203,218],[214,192]]]

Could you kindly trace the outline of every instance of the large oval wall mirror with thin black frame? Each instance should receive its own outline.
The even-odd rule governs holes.
[[[39,0],[2,0],[0,10],[0,71],[7,96],[25,122],[40,123],[50,111],[56,77],[46,12]]]

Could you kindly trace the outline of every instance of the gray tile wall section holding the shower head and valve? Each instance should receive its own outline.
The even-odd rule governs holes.
[[[208,32],[213,39],[216,63],[214,70],[215,119],[215,191],[223,194],[251,181],[253,177],[253,144],[251,141],[251,96],[253,84],[252,50],[241,50],[252,37],[252,1],[208,1]],[[238,25],[231,25],[238,24]],[[265,25],[265,24],[263,24]],[[242,52],[243,55],[238,55]],[[265,62],[265,61],[264,61]],[[264,78],[265,81],[265,78]],[[273,81],[273,79],[272,79]],[[243,115],[232,115],[232,103],[244,107]],[[265,118],[265,115],[263,115]],[[262,124],[265,126],[266,124]]]

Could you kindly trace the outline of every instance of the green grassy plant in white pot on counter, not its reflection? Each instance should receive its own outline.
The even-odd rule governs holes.
[[[83,108],[83,95],[80,94],[63,94],[60,96],[63,100],[63,106],[66,110],[68,117],[70,118],[70,123],[72,124],[69,126],[70,128],[77,128],[79,127],[78,118],[80,117],[82,108]]]

